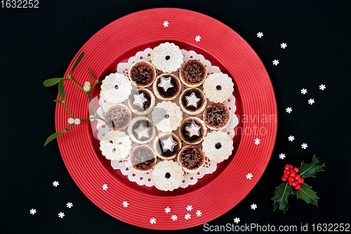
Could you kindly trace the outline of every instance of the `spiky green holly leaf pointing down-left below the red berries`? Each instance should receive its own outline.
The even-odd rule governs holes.
[[[274,212],[278,210],[279,212],[285,213],[286,209],[288,209],[288,200],[289,197],[293,195],[293,189],[289,186],[289,183],[282,183],[277,189],[274,191]]]

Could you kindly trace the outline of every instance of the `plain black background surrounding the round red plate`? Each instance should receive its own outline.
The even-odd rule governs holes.
[[[44,1],[39,8],[0,8],[0,233],[153,233],[105,214],[81,193],[62,162],[55,131],[57,87],[79,48],[102,27],[135,11],[186,8],[209,15],[241,35],[263,61],[277,98],[278,131],[265,173],[244,200],[208,225],[350,223],[351,1]],[[263,32],[259,39],[257,32]],[[288,47],[280,48],[285,42]],[[279,65],[272,65],[278,59]],[[325,84],[324,91],[319,85]],[[307,94],[300,89],[307,89]],[[307,100],[314,98],[314,105]],[[293,112],[286,113],[287,107]],[[288,136],[296,140],[288,141]],[[302,143],[308,148],[303,150]],[[285,153],[284,160],[279,154]],[[324,172],[305,182],[319,206],[291,197],[286,214],[273,212],[285,164],[316,154]],[[52,186],[59,181],[60,186]],[[66,207],[72,202],[72,209]],[[251,204],[257,204],[253,210]],[[37,214],[29,214],[30,209]],[[63,219],[59,212],[65,212]],[[202,233],[203,226],[174,232]]]

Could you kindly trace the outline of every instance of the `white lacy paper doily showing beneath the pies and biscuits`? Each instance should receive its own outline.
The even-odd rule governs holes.
[[[219,67],[211,65],[211,62],[206,60],[204,58],[204,56],[202,56],[201,54],[197,54],[194,51],[185,51],[183,49],[182,49],[182,51],[184,54],[184,61],[185,62],[187,60],[197,59],[197,60],[200,60],[201,63],[204,63],[204,65],[206,65],[207,72],[208,72],[207,74],[212,74],[213,72],[220,72]],[[138,53],[135,54],[135,56],[129,58],[127,63],[119,63],[117,65],[117,72],[128,76],[129,68],[131,67],[131,65],[138,60],[150,61],[151,60],[151,53],[152,53],[152,48],[147,48],[144,51],[139,51]],[[159,74],[161,74],[161,71],[157,70],[157,75],[159,75]],[[176,74],[176,76],[179,77],[179,70],[177,72],[173,72],[173,74]],[[133,89],[136,89],[135,86],[133,86]],[[152,86],[147,88],[147,89],[152,90]],[[185,90],[185,89],[187,89],[187,87],[185,87],[182,84],[181,89]],[[161,101],[162,100],[159,100],[158,98],[156,98],[156,105],[157,105],[157,103],[160,103]],[[176,103],[177,105],[179,105],[179,98],[174,99],[173,102]],[[128,106],[128,100],[124,101],[124,104]],[[207,106],[211,105],[211,104],[212,103],[207,100]],[[238,117],[237,117],[237,115],[235,115],[235,110],[237,110],[237,107],[235,105],[234,96],[231,96],[223,104],[230,110],[231,119],[230,119],[230,124],[227,126],[226,129],[223,129],[222,131],[227,132],[227,134],[233,138],[235,136],[234,127],[237,126],[237,124],[239,124]],[[96,112],[98,112],[98,115],[100,115],[100,117],[103,117],[105,114],[105,110],[107,110],[107,108],[109,108],[110,105],[112,105],[112,103],[110,103],[108,100],[106,100],[106,98],[104,96],[102,96],[100,93],[98,105],[99,106],[95,106]],[[91,115],[93,115],[93,112],[91,110],[90,110],[90,113],[91,113]],[[137,116],[138,115],[135,115],[132,113],[132,119],[134,117],[137,117]],[[148,113],[146,116],[149,117],[149,119],[152,119],[151,112]],[[193,117],[193,116],[194,115],[188,115],[185,112],[183,112],[183,119],[185,119],[187,117]],[[199,115],[195,115],[195,116],[201,118],[202,112]],[[108,131],[111,131],[111,129],[105,125],[105,122],[103,122],[101,120],[96,119],[95,121],[93,121],[91,123],[92,123],[94,136],[97,136],[99,141],[101,141],[103,135],[105,135]],[[126,131],[126,129],[124,131]],[[173,133],[178,136],[178,131],[173,131]],[[128,134],[128,133],[126,132],[126,134]],[[157,136],[157,135],[158,135],[158,131],[156,132],[155,136]],[[152,148],[153,140],[154,140],[154,138],[149,143],[146,143],[151,148]],[[133,148],[135,148],[138,145],[140,145],[140,144],[133,143],[132,146],[133,146]],[[187,145],[187,144],[183,143],[182,146],[185,146],[185,145]],[[201,145],[199,145],[199,146],[201,147]],[[173,160],[176,160],[176,159],[173,159]],[[159,162],[159,159],[157,159],[157,162]],[[192,173],[192,174],[188,174],[185,172],[185,176],[184,176],[185,178],[184,178],[184,181],[180,187],[186,188],[187,186],[194,185],[195,183],[197,183],[198,179],[202,178],[205,174],[213,173],[213,171],[216,171],[216,169],[217,169],[217,163],[218,162],[212,162],[211,160],[209,160],[206,157],[204,167],[202,167],[199,172]],[[131,164],[128,162],[128,158],[126,158],[124,160],[120,160],[120,161],[111,161],[111,166],[113,169],[119,169],[124,176],[128,177],[129,181],[133,181],[135,183],[138,183],[138,185],[140,185],[140,186],[148,186],[148,187],[154,186],[154,182],[152,181],[152,177],[151,177],[151,172],[150,173],[149,172],[140,173],[138,171],[135,171],[131,167]]]

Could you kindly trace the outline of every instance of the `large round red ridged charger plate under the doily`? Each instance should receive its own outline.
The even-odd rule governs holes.
[[[73,77],[84,86],[84,82],[92,82],[88,67],[95,78],[102,80],[105,75],[116,72],[118,63],[165,41],[202,54],[232,77],[239,124],[235,128],[233,155],[228,160],[218,164],[213,174],[200,178],[194,186],[165,192],[138,186],[119,170],[112,169],[110,161],[101,155],[89,121],[59,136],[58,145],[69,174],[100,209],[134,226],[171,230],[216,219],[256,185],[274,147],[277,105],[263,63],[239,34],[207,15],[178,8],[138,11],[110,23],[84,44],[65,77],[82,51],[85,56]],[[65,100],[74,117],[87,118],[86,94],[68,80],[65,80],[65,90]],[[96,86],[91,95],[98,98],[99,92],[100,86]],[[69,125],[68,118],[65,108],[56,105],[56,131]],[[252,174],[252,178],[246,178],[247,174]],[[107,190],[102,189],[104,184]],[[128,202],[128,207],[124,207],[124,202]],[[187,209],[188,206],[192,209]],[[171,212],[166,213],[166,207],[170,207]],[[187,214],[190,219],[185,219]],[[172,215],[178,219],[173,221]]]

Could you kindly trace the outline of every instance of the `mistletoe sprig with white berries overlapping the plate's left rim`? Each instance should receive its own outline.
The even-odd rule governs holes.
[[[96,84],[100,83],[100,81],[98,79],[95,79],[93,77],[93,75],[91,74],[91,70],[88,68],[88,73],[89,73],[89,76],[91,77],[91,79],[93,79],[93,81],[95,82],[93,84],[93,86],[91,86],[90,82],[85,82],[84,84],[84,87],[81,87],[79,84],[77,84],[77,82],[74,81],[73,77],[72,77],[72,74],[74,72],[74,69],[77,67],[77,65],[79,64],[79,62],[81,61],[81,59],[83,58],[84,56],[84,52],[81,52],[77,58],[77,60],[74,61],[74,64],[72,66],[72,70],[70,72],[70,74],[67,75],[67,77],[63,78],[63,77],[58,77],[58,78],[51,78],[51,79],[46,79],[46,81],[43,82],[44,86],[46,87],[50,87],[50,86],[53,86],[55,84],[58,84],[58,93],[60,94],[60,98],[61,100],[58,100],[58,99],[55,99],[53,100],[55,103],[58,103],[58,104],[61,104],[61,105],[64,105],[67,112],[69,113],[70,115],[70,118],[68,119],[68,123],[69,123],[69,126],[67,126],[67,128],[63,129],[62,131],[58,131],[58,132],[55,132],[55,134],[52,134],[51,136],[49,136],[45,143],[44,143],[44,146],[47,145],[50,141],[53,141],[53,139],[57,138],[58,136],[60,136],[61,134],[65,133],[66,131],[69,131],[69,129],[74,126],[74,125],[77,125],[77,124],[80,124],[81,122],[83,121],[86,121],[86,120],[91,120],[91,119],[100,119],[102,121],[104,121],[104,119],[102,119],[102,117],[100,117],[98,115],[98,113],[96,112],[93,104],[91,105],[92,108],[93,108],[93,111],[94,111],[94,115],[91,116],[91,117],[88,117],[86,119],[78,119],[78,118],[74,118],[74,115],[72,115],[72,112],[69,111],[69,109],[67,108],[67,103],[65,101],[65,86],[63,86],[63,80],[64,79],[69,79],[70,81],[72,81],[74,84],[76,84],[79,89],[81,89],[82,91],[84,91],[87,95],[88,95],[88,98],[89,98],[89,101],[90,103],[91,102],[91,91],[93,90],[93,88],[95,87]]]

